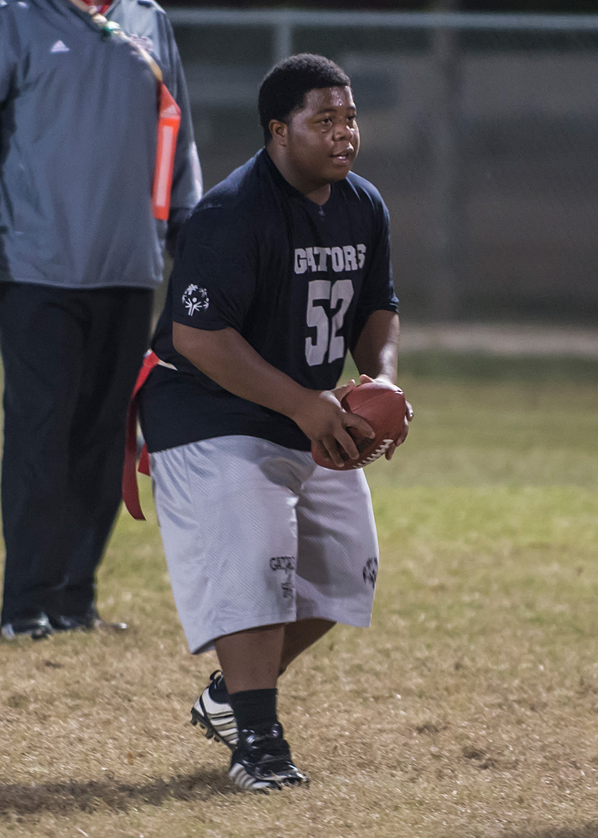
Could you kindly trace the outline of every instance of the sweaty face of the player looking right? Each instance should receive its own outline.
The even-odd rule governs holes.
[[[286,163],[296,178],[318,187],[346,178],[359,150],[350,87],[308,91],[287,122]]]

